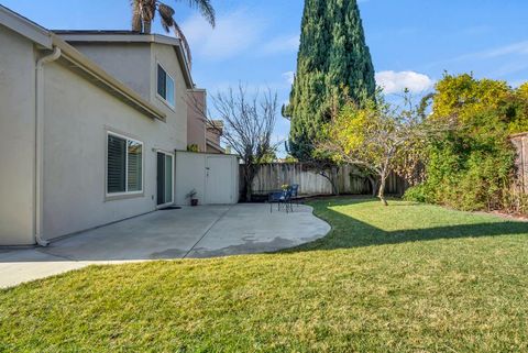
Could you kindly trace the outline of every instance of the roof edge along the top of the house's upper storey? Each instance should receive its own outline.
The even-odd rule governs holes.
[[[99,30],[53,30],[66,42],[72,43],[157,43],[170,45],[176,52],[178,62],[184,73],[184,78],[188,89],[195,88],[193,76],[190,75],[190,65],[182,46],[182,41],[172,36],[162,34],[144,34],[134,31],[99,31]]]

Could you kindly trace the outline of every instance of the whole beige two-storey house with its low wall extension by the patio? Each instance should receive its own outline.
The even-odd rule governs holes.
[[[237,202],[234,156],[180,152],[193,90],[174,37],[50,31],[0,5],[0,245],[185,202],[189,188]]]

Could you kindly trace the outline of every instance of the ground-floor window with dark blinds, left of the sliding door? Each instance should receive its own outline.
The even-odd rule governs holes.
[[[108,133],[107,194],[143,191],[143,143]]]

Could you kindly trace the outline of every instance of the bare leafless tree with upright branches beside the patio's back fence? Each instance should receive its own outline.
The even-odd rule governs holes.
[[[278,112],[277,93],[267,89],[264,93],[257,91],[250,95],[248,88],[239,84],[238,89],[229,88],[212,97],[215,119],[201,108],[204,104],[193,100],[193,95],[190,99],[190,108],[204,117],[210,128],[217,129],[221,139],[242,159],[242,195],[246,201],[251,201],[258,164],[274,154],[279,144],[272,143]],[[218,120],[223,122],[222,126],[218,126]]]

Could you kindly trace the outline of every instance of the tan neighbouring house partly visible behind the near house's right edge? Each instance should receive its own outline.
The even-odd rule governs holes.
[[[187,102],[188,147],[196,147],[199,152],[224,154],[226,150],[220,146],[223,122],[221,120],[210,122],[205,118],[207,115],[207,91],[205,89],[189,90]]]

